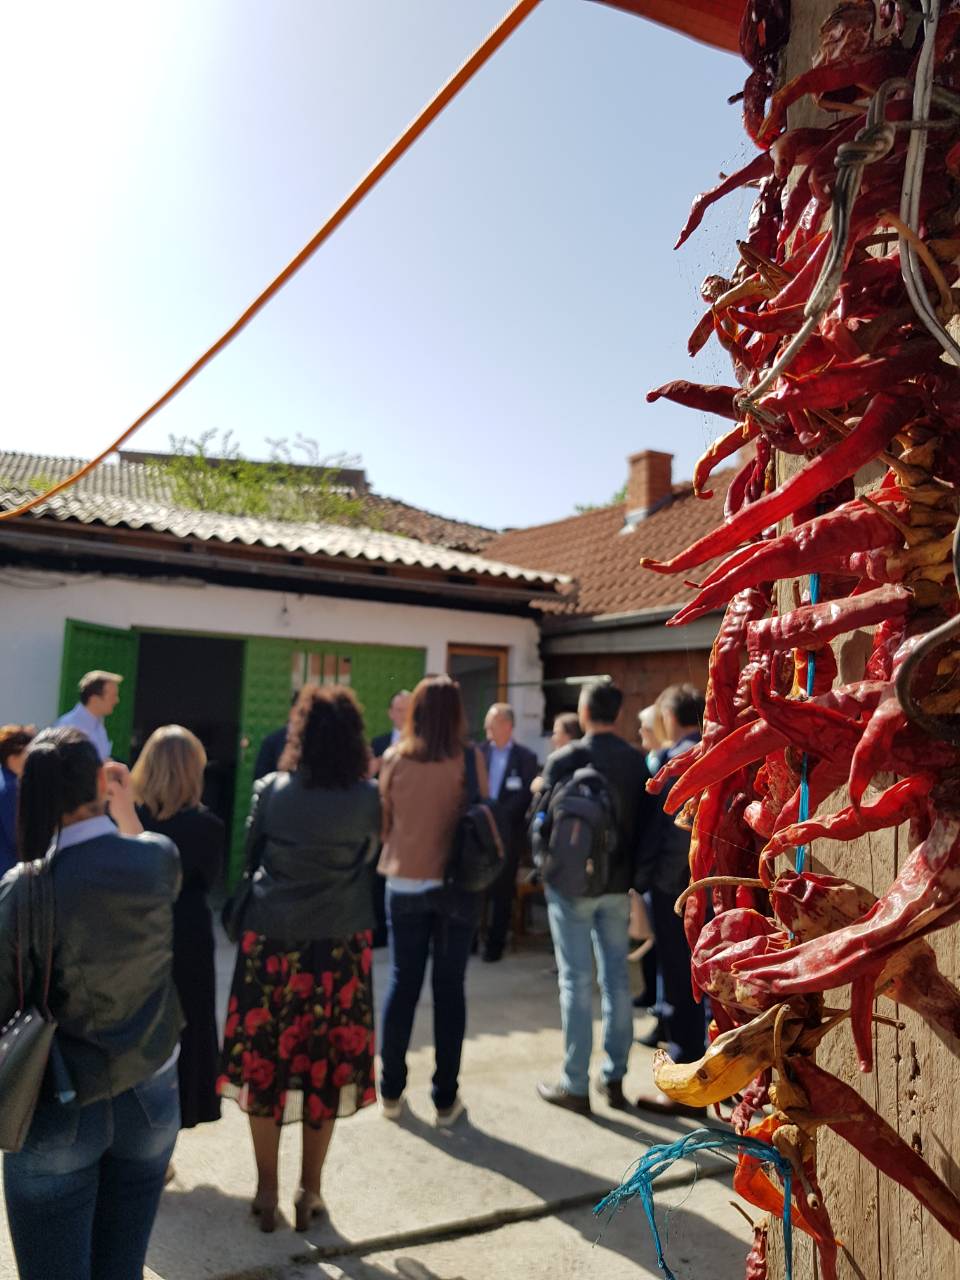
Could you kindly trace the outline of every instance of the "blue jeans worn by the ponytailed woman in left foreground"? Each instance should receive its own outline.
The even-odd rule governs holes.
[[[142,1280],[179,1125],[175,1062],[115,1098],[44,1102],[4,1156],[20,1280]]]

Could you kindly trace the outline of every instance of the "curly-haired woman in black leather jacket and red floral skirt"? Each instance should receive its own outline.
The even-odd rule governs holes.
[[[282,772],[253,788],[242,922],[219,1089],[250,1116],[251,1204],[276,1224],[280,1126],[302,1124],[296,1226],[324,1211],[320,1175],[337,1116],[374,1089],[372,856],[380,823],[360,707],[348,689],[303,689]]]

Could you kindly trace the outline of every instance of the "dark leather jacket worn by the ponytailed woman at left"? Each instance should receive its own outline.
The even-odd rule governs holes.
[[[58,850],[49,874],[49,1005],[77,1101],[86,1105],[142,1083],[177,1047],[183,1018],[172,977],[172,908],[180,860],[165,836],[96,835]],[[0,881],[0,1024],[19,1004],[17,882],[15,869]],[[28,966],[28,984],[33,973]]]

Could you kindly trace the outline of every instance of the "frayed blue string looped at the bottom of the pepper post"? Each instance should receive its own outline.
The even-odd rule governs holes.
[[[677,1139],[677,1142],[662,1143],[657,1147],[650,1147],[646,1155],[637,1160],[634,1166],[634,1172],[630,1174],[630,1176],[622,1181],[620,1187],[616,1187],[609,1196],[604,1196],[600,1203],[594,1208],[594,1213],[603,1213],[609,1210],[612,1216],[626,1201],[634,1199],[634,1197],[639,1196],[644,1213],[646,1213],[646,1221],[650,1224],[654,1245],[657,1247],[657,1266],[663,1272],[666,1280],[677,1280],[675,1274],[667,1266],[667,1260],[663,1256],[663,1244],[660,1242],[660,1233],[657,1226],[657,1212],[653,1204],[653,1184],[660,1174],[664,1174],[677,1160],[686,1160],[698,1151],[718,1151],[723,1153],[723,1148],[727,1147],[733,1147],[740,1153],[754,1156],[764,1164],[773,1165],[783,1181],[783,1252],[786,1254],[785,1280],[792,1280],[794,1226],[790,1206],[792,1169],[790,1166],[790,1161],[785,1160],[776,1147],[772,1147],[768,1142],[762,1142],[759,1138],[750,1138],[721,1129],[694,1129],[692,1133]]]

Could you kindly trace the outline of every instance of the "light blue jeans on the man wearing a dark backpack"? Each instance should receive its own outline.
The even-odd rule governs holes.
[[[602,1075],[607,1083],[623,1079],[634,1043],[634,1001],[627,973],[630,899],[626,893],[566,897],[548,884],[547,914],[559,970],[561,1084],[568,1093],[586,1097],[594,1042],[594,956],[603,1016]]]

